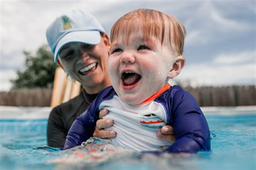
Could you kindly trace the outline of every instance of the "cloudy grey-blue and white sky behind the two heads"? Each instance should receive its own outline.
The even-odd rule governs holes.
[[[0,0],[0,91],[24,70],[23,51],[47,44],[47,27],[66,11],[92,13],[110,35],[118,18],[149,8],[178,18],[186,27],[186,66],[177,77],[192,86],[256,84],[256,5],[247,0],[68,1]],[[52,60],[53,62],[53,60]]]

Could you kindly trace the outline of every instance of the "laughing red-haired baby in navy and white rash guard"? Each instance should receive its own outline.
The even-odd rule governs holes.
[[[163,12],[138,9],[119,18],[111,30],[109,73],[112,86],[101,91],[71,126],[65,148],[92,136],[99,110],[106,108],[117,132],[115,146],[136,151],[210,150],[208,124],[193,96],[168,84],[185,66],[185,27]],[[173,126],[176,141],[157,138],[162,126]]]

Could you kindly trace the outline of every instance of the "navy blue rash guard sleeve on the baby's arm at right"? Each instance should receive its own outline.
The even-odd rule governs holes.
[[[210,130],[197,101],[178,86],[174,86],[169,95],[172,98],[169,101],[170,124],[173,126],[176,141],[165,152],[210,151]]]

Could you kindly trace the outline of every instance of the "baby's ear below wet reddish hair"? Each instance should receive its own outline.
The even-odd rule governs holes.
[[[177,56],[176,61],[173,63],[172,69],[168,74],[169,79],[173,79],[174,77],[178,76],[185,64],[186,60],[184,57],[181,55]]]

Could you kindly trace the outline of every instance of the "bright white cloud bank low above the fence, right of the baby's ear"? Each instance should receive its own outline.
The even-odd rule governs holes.
[[[210,62],[187,65],[177,79],[191,80],[192,86],[255,84],[255,52],[220,54]]]

